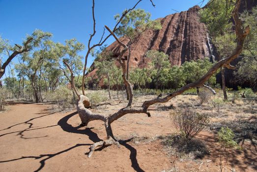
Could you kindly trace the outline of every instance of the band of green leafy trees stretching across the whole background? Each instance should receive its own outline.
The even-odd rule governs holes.
[[[216,2],[213,3],[213,5],[217,5]],[[217,6],[214,7],[215,9],[217,8]],[[218,5],[218,7],[220,6]],[[228,13],[229,12],[230,11],[228,11]],[[203,16],[201,20],[205,20],[205,23],[208,23],[207,19],[209,18],[207,14],[213,15],[213,12],[202,11],[200,14]],[[215,45],[218,45],[217,50],[220,56],[226,57],[231,53],[229,51],[233,50],[236,40],[234,33],[229,31],[232,26],[227,22],[228,16],[222,13],[222,15],[218,15],[218,18],[219,17],[224,19],[223,27],[225,29],[222,30],[223,32],[215,29],[215,34],[212,35],[212,38]],[[257,88],[256,17],[257,7],[253,8],[251,13],[246,11],[241,14],[241,20],[245,22],[244,25],[251,25],[252,30],[249,36],[247,36],[244,45],[243,54],[245,57],[238,63],[238,68],[234,72],[234,76],[239,82],[248,82],[254,89]],[[216,20],[217,17],[213,18],[212,16],[211,19]],[[116,15],[115,20],[119,21],[120,16]],[[140,22],[135,22],[134,20]],[[145,23],[142,29],[133,29],[137,28],[137,25],[142,23]],[[136,38],[143,34],[146,29],[160,29],[160,24],[156,21],[151,21],[150,14],[144,13],[142,9],[132,10],[131,13],[122,20],[122,25],[122,29],[115,33],[117,36],[125,36],[128,38],[129,51],[130,45]],[[206,25],[209,27],[208,24]],[[96,57],[95,67],[98,69],[96,72],[97,77],[87,77],[85,81],[83,81],[83,57],[79,56],[79,53],[85,49],[85,45],[78,42],[76,39],[66,40],[65,44],[55,43],[52,41],[52,36],[50,32],[43,32],[42,30],[36,29],[31,35],[27,36],[22,46],[17,44],[11,46],[8,40],[0,37],[0,79],[5,75],[4,87],[7,88],[9,94],[12,93],[17,100],[20,100],[21,97],[25,97],[26,92],[28,93],[28,99],[41,102],[43,101],[42,92],[46,94],[48,92],[53,93],[59,86],[67,85],[73,90],[74,99],[76,99],[76,96],[73,87],[81,88],[83,91],[88,85],[87,83],[91,83],[91,86],[97,89],[99,82],[102,82],[109,90],[111,88],[116,89],[117,96],[121,88],[125,89],[124,84],[122,84],[122,70],[116,65],[117,62],[114,61],[111,55],[103,53],[105,48],[100,48],[97,53],[93,52],[93,48],[90,49],[90,53]],[[5,62],[2,62],[4,57],[7,57],[7,59]],[[11,60],[14,57],[18,58],[19,62],[11,65]],[[147,86],[155,87],[156,89],[178,89],[181,86],[198,80],[212,65],[210,60],[205,58],[185,62],[181,66],[171,67],[167,55],[158,51],[148,51],[146,58],[150,61],[147,64],[147,68],[133,68],[127,64],[127,66],[129,66],[127,70],[131,70],[127,72],[127,79],[129,78],[134,88],[140,89],[142,92]],[[9,68],[8,72],[6,72],[7,68]],[[74,86],[72,85],[72,79],[74,80]],[[84,86],[82,86],[83,84]],[[212,76],[206,84],[208,86],[214,86],[216,84],[215,76]],[[111,95],[109,96],[111,98]],[[9,97],[11,96],[9,95]]]

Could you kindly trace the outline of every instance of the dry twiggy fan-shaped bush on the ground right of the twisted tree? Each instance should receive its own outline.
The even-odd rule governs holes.
[[[209,123],[207,114],[199,114],[188,108],[182,112],[173,111],[170,115],[176,129],[186,142],[195,137]]]

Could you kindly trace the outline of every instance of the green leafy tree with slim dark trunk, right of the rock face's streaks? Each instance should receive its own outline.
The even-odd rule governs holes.
[[[234,9],[236,0],[212,0],[208,3],[206,8],[200,10],[200,21],[205,23],[209,34],[218,46],[217,59],[221,60],[231,55],[235,44],[233,37],[235,33],[232,32],[232,11]],[[235,69],[234,66],[226,66],[229,69]],[[222,76],[222,89],[224,99],[227,100],[226,83],[225,83],[225,68],[220,69]]]

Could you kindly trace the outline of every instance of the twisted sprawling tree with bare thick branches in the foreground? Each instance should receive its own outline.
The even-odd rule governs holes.
[[[140,1],[141,0],[139,0],[137,2],[137,4]],[[238,9],[239,9],[240,2],[241,2],[240,0],[236,0],[235,8],[233,9],[233,12],[232,12],[232,15],[233,15],[233,18],[235,21],[235,33],[236,33],[236,37],[237,37],[237,46],[234,49],[233,53],[229,57],[226,57],[226,58],[214,63],[211,66],[211,68],[205,74],[203,74],[203,76],[200,77],[197,81],[187,84],[185,86],[182,86],[180,89],[178,89],[172,93],[169,93],[165,97],[158,96],[157,98],[153,98],[151,100],[146,100],[143,102],[142,106],[140,106],[140,107],[133,106],[133,89],[132,89],[130,82],[126,79],[126,63],[124,62],[123,59],[124,59],[125,52],[128,50],[128,47],[126,44],[124,44],[122,41],[120,41],[119,38],[117,38],[117,36],[114,34],[115,29],[111,30],[109,27],[105,26],[105,28],[110,32],[110,34],[115,38],[115,40],[119,43],[119,45],[122,48],[117,57],[117,60],[122,68],[123,83],[128,88],[129,101],[128,101],[128,104],[126,107],[122,107],[121,109],[119,109],[117,112],[114,112],[113,114],[106,115],[106,114],[101,114],[98,112],[95,113],[95,112],[91,112],[88,109],[90,107],[90,100],[88,99],[88,97],[85,96],[85,93],[83,92],[83,95],[80,95],[77,92],[77,90],[75,91],[78,96],[77,110],[78,110],[78,114],[82,121],[81,125],[87,126],[88,122],[90,122],[90,121],[101,120],[104,122],[105,130],[106,130],[106,134],[107,134],[107,140],[96,142],[90,146],[90,151],[88,153],[88,157],[90,157],[92,155],[92,153],[94,152],[94,150],[99,146],[109,146],[112,144],[115,144],[118,147],[120,146],[118,140],[114,137],[113,130],[111,127],[112,122],[114,122],[115,120],[117,120],[118,118],[120,118],[126,114],[146,114],[147,116],[151,116],[150,112],[148,111],[149,106],[154,105],[156,103],[165,103],[165,102],[171,100],[173,97],[182,94],[184,91],[186,91],[190,88],[199,87],[199,86],[204,85],[204,83],[208,79],[210,79],[210,77],[213,74],[215,74],[219,70],[220,67],[228,66],[232,60],[234,60],[241,54],[245,37],[249,34],[250,28],[242,27],[242,23],[241,23],[241,20],[239,19],[239,15],[238,15]],[[128,9],[123,14],[126,15],[127,12],[134,9],[135,6],[131,9]],[[92,9],[94,10],[94,1],[93,1]],[[94,20],[94,18],[93,18],[93,20]],[[95,24],[95,20],[94,20],[94,24]],[[116,26],[115,26],[115,28],[116,28]],[[89,45],[90,45],[91,38],[92,37],[90,36]],[[71,73],[71,75],[72,75],[72,73]],[[85,75],[83,75],[83,76],[85,76]],[[74,80],[73,80],[74,78],[71,77],[71,79],[72,79],[72,85],[74,85]],[[83,82],[83,84],[84,84],[84,82]],[[73,87],[73,88],[75,89],[75,87]]]

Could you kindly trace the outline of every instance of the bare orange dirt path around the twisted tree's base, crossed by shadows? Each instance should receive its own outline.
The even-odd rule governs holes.
[[[121,148],[110,146],[87,158],[89,145],[105,138],[102,123],[94,121],[91,129],[80,129],[76,113],[48,114],[47,108],[17,104],[0,115],[0,172],[160,172],[170,167],[165,153],[158,150],[159,143],[135,147],[124,142]],[[151,130],[170,132],[167,128],[154,129],[152,121],[145,119],[145,115],[139,115],[137,121],[127,123],[126,117],[121,118],[114,123],[114,133],[129,139],[137,131],[142,131],[142,136]]]

